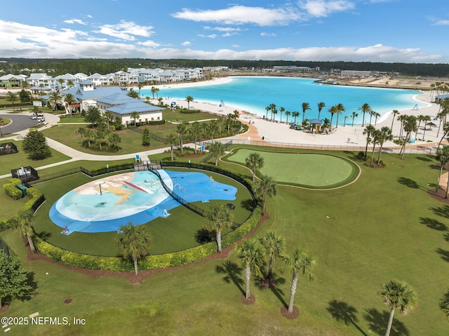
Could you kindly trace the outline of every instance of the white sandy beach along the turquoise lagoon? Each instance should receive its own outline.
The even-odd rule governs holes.
[[[189,87],[189,86],[203,86],[203,85],[216,85],[220,83],[226,83],[231,81],[229,78],[220,78],[214,79],[213,81],[206,82],[196,82],[196,83],[173,83],[167,84],[165,87]],[[162,87],[162,86],[159,86]],[[151,89],[151,86],[147,86],[145,88]],[[416,102],[422,102],[425,104],[424,107],[420,107],[419,109],[403,109],[400,110],[400,114],[413,115],[413,116],[430,116],[431,121],[436,124],[436,126],[429,128],[427,126],[427,130],[425,130],[424,141],[415,140],[415,144],[409,144],[407,147],[411,146],[425,146],[425,147],[433,147],[438,144],[441,140],[442,131],[438,133],[438,125],[439,120],[434,120],[436,114],[440,109],[439,105],[434,102],[431,102],[433,97],[431,97],[431,91],[425,91],[420,95],[416,95],[413,97],[413,100]],[[170,105],[171,102],[176,102],[176,104],[180,107],[187,108],[186,100],[174,100],[169,98],[164,98],[163,103]],[[152,100],[152,103],[157,104],[157,100]],[[200,109],[201,111],[212,112],[214,114],[227,115],[229,113],[234,113],[234,110],[238,110],[242,112],[243,109],[239,106],[220,106],[211,102],[203,102],[196,101],[190,102],[189,104],[191,109]],[[393,107],[391,108],[391,110]],[[361,112],[360,112],[361,113]],[[397,118],[397,116],[395,117]],[[346,147],[365,147],[366,146],[366,137],[363,135],[363,129],[365,127],[359,126],[351,126],[351,118],[348,117],[346,120],[346,124],[344,125],[344,118],[340,117],[339,126],[333,130],[330,134],[311,134],[304,132],[302,130],[293,130],[289,127],[287,123],[276,123],[272,121],[266,121],[259,116],[251,116],[249,114],[241,113],[240,120],[246,123],[251,124],[250,132],[245,135],[239,135],[239,137],[247,139],[247,140],[262,140],[271,142],[271,143],[284,143],[284,144],[295,144],[295,145],[329,145],[329,146],[346,146]],[[289,122],[293,121],[293,118],[290,116]],[[366,124],[369,122],[369,116],[366,115]],[[393,114],[391,112],[387,112],[377,119],[377,123],[374,125],[374,120],[372,121],[373,126],[375,128],[380,129],[384,126],[391,127],[391,123],[393,121]],[[395,138],[398,137],[401,132],[401,123],[397,120],[393,121],[393,135]],[[420,129],[417,132],[417,139],[422,139],[424,135],[424,124],[421,123]],[[414,136],[414,135],[413,135]],[[447,143],[447,142],[445,142]],[[389,141],[384,144],[384,147],[398,147],[398,145],[394,144],[394,142]]]

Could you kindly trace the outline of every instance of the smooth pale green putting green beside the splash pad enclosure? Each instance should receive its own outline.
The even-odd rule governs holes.
[[[241,148],[234,149],[227,160],[245,165],[246,158],[253,152],[264,158],[264,166],[259,172],[272,176],[282,184],[330,189],[349,184],[360,171],[356,163],[330,154],[263,152]]]

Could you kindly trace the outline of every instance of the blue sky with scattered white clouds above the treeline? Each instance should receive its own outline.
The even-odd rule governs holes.
[[[449,63],[448,0],[2,1],[0,57]]]

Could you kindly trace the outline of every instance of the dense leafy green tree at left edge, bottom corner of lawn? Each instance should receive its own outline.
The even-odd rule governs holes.
[[[9,257],[0,249],[0,308],[6,302],[22,297],[32,290],[28,276],[18,257]]]

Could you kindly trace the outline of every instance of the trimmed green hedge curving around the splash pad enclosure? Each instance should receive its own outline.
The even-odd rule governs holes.
[[[186,163],[186,167],[187,165],[188,163]],[[175,165],[173,164],[173,166]],[[178,163],[178,166],[184,166],[184,163]],[[193,168],[194,165],[192,164],[190,166]],[[222,173],[223,175],[232,177],[234,178],[234,180],[237,180],[238,182],[241,182],[243,185],[245,185],[245,187],[248,187],[251,194],[253,194],[253,188],[250,182],[239,175],[230,173],[227,170],[223,170],[215,166],[203,164],[195,166],[196,168],[203,168],[205,170],[211,170],[216,173]],[[27,204],[25,204],[25,207],[27,207]],[[243,238],[251,231],[253,231],[253,229],[255,229],[255,227],[257,226],[261,215],[262,209],[259,205],[257,205],[255,210],[253,210],[253,213],[250,215],[250,217],[248,217],[248,220],[234,229],[234,231],[231,231],[222,237],[222,247],[225,248],[232,245],[233,243],[239,241],[239,239]],[[60,262],[62,264],[67,264],[74,267],[81,267],[86,269],[101,269],[104,271],[133,271],[134,269],[133,262],[131,262],[130,260],[124,260],[122,257],[98,257],[95,255],[76,253],[69,250],[64,250],[62,248],[59,248],[58,246],[54,246],[36,235],[33,236],[33,239],[36,249],[55,262]],[[195,246],[194,248],[188,248],[187,250],[182,250],[174,253],[165,253],[163,255],[147,255],[147,257],[139,260],[138,266],[141,271],[182,266],[185,264],[203,260],[205,257],[213,255],[213,253],[216,252],[217,243],[213,241],[200,246]]]

